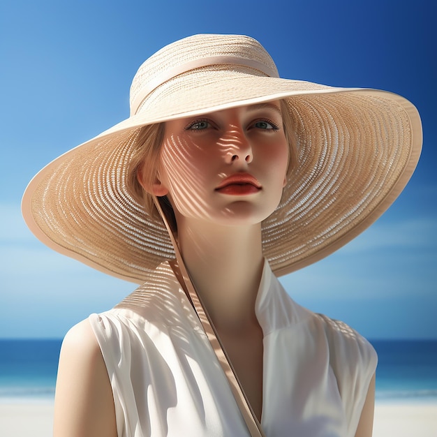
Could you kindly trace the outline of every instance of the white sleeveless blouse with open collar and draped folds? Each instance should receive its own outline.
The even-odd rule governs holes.
[[[267,437],[353,437],[377,357],[347,325],[297,305],[268,262],[256,315],[264,334]],[[93,314],[119,437],[249,436],[214,350],[168,263],[114,309]]]

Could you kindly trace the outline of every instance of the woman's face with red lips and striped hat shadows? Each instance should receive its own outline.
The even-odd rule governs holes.
[[[279,102],[167,121],[154,193],[177,219],[260,223],[281,200],[288,153]]]

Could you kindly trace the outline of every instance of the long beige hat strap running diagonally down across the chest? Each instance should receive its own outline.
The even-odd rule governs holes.
[[[175,235],[173,234],[170,225],[168,224],[168,220],[165,217],[163,209],[161,208],[161,204],[159,203],[159,200],[158,198],[156,198],[156,196],[153,197],[156,208],[158,208],[158,212],[163,218],[165,228],[167,228],[168,230],[172,245],[175,249],[177,265],[179,267],[179,274],[180,276],[182,276],[182,281],[184,282],[181,285],[185,289],[185,292],[188,293],[188,298],[191,300],[191,304],[193,305],[193,308],[198,315],[200,323],[202,323],[202,327],[205,330],[205,334],[207,334],[209,343],[211,343],[217,360],[220,363],[226,378],[228,378],[230,390],[232,390],[235,401],[237,401],[237,405],[239,406],[239,409],[244,417],[244,422],[246,422],[246,426],[249,429],[252,437],[265,437],[265,434],[262,432],[260,422],[258,422],[258,419],[250,406],[249,400],[244,393],[242,385],[237,378],[235,369],[232,366],[229,357],[223,348],[223,344],[218,338],[216,328],[214,327],[212,320],[209,317],[207,310],[205,309],[205,306],[203,306],[198,293],[195,291],[193,282],[191,281],[190,275],[186,270],[184,260],[182,259],[182,255],[179,251],[179,246],[177,246]],[[175,269],[175,267],[173,266],[172,268]],[[177,274],[177,272],[175,272],[175,274]]]

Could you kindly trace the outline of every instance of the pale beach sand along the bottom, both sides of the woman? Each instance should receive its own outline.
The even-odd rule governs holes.
[[[1,437],[52,436],[53,404],[0,403]],[[373,437],[436,437],[437,402],[376,403]]]

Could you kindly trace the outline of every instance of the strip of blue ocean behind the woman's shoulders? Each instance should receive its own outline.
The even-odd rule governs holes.
[[[437,341],[371,341],[376,401],[437,401]],[[61,340],[0,339],[0,403],[52,401]]]

